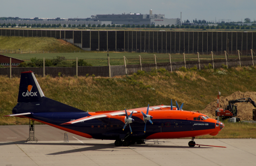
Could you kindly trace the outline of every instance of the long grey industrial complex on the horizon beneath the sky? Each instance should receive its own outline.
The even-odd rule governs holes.
[[[0,20],[0,24],[61,24],[63,26],[66,24],[71,25],[83,25],[85,24],[86,27],[91,24],[95,25],[159,25],[159,26],[167,26],[167,25],[179,25],[180,18],[165,18],[165,14],[152,14],[152,10],[150,10],[149,14],[140,14],[140,13],[130,13],[130,14],[97,14],[91,15],[90,18],[7,18],[6,20]]]

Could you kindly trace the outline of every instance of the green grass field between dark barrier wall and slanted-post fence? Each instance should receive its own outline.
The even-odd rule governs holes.
[[[20,49],[20,50],[19,50]],[[43,53],[44,51],[44,53]],[[74,60],[86,59],[93,66],[107,66],[107,52],[84,51],[69,42],[57,40],[55,38],[37,38],[37,37],[6,37],[0,36],[0,54],[22,59],[27,62],[31,58],[53,59],[57,56],[65,56],[66,59]],[[111,65],[124,65],[124,56],[127,58],[127,64],[139,64],[139,55],[142,57],[142,63],[169,62],[169,54],[157,53],[127,53],[127,52],[110,52]],[[248,56],[241,56],[248,57]],[[185,55],[186,61],[198,60],[198,55]],[[201,60],[212,59],[212,55],[199,55]],[[225,59],[225,55],[213,55],[214,59]],[[229,58],[238,58],[238,55],[229,55]],[[171,54],[171,61],[184,61],[183,54]]]

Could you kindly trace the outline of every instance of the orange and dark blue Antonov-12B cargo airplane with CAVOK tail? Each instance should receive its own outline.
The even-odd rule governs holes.
[[[194,138],[215,136],[224,124],[199,112],[182,107],[158,105],[123,111],[85,112],[44,97],[32,71],[21,73],[17,105],[13,114],[57,127],[73,134],[95,139],[115,140],[115,146],[142,144],[144,139]]]

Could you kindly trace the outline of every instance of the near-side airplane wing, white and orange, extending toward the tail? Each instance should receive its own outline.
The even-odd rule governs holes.
[[[132,112],[132,111],[127,111],[127,112]],[[133,111],[133,113],[136,113],[137,111]],[[125,115],[125,111],[116,111],[116,112],[111,112],[111,113],[103,113],[100,115],[92,115],[92,116],[86,116],[80,119],[76,119],[74,121],[70,121],[70,122],[66,122],[64,124],[75,124],[75,123],[79,123],[79,122],[84,122],[84,121],[88,121],[91,119],[99,119],[99,118],[109,118],[111,116],[118,116],[118,115]]]

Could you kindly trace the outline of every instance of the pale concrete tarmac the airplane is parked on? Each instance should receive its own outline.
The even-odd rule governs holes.
[[[36,125],[38,142],[28,142],[28,125],[0,126],[0,166],[256,166],[256,139],[147,140],[115,147],[113,140],[88,139]]]

